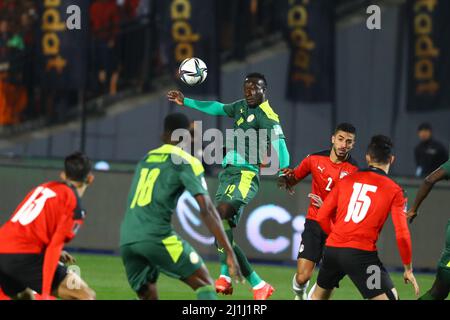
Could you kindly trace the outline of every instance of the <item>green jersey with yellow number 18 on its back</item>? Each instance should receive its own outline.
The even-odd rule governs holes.
[[[173,145],[150,151],[137,165],[128,195],[120,245],[172,232],[171,217],[185,191],[208,194],[201,162]]]

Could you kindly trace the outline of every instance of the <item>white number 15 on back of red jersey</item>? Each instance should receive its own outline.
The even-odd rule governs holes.
[[[345,222],[349,222],[351,219],[354,223],[360,223],[364,220],[372,203],[367,192],[376,192],[377,188],[370,184],[355,183],[353,185],[353,194],[350,198]]]

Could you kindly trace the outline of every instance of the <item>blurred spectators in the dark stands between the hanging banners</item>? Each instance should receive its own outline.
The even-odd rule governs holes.
[[[162,2],[157,0],[89,0],[89,54],[87,99],[115,96],[124,88],[146,90],[150,78],[169,74],[165,43],[149,23]],[[76,115],[75,90],[43,88],[36,68],[41,21],[38,0],[0,0],[0,128],[27,120],[46,123]],[[275,0],[219,1],[220,48],[234,58],[244,58],[242,48],[267,34],[276,19]],[[240,15],[236,15],[240,12]],[[247,33],[242,32],[244,28]],[[156,31],[155,31],[156,30]]]

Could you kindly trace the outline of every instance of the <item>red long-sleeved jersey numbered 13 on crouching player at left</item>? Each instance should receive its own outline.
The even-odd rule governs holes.
[[[45,254],[42,294],[49,295],[64,243],[75,237],[84,216],[74,188],[63,182],[43,183],[0,228],[0,254]]]

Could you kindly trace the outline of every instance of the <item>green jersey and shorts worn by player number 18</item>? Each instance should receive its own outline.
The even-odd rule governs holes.
[[[184,192],[208,194],[200,161],[163,145],[137,165],[120,228],[120,252],[131,287],[155,282],[159,272],[185,279],[203,264],[172,229],[171,216]]]

